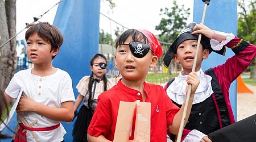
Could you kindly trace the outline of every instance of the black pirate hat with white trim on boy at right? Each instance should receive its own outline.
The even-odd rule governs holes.
[[[191,34],[193,32],[193,28],[196,26],[196,23],[190,23],[187,27],[185,27],[183,30],[180,31],[180,34],[177,36],[177,38],[174,40],[168,51],[166,52],[166,55],[164,55],[163,62],[164,66],[168,68],[168,66],[171,63],[172,58],[177,53],[177,47],[185,40],[188,39],[195,39],[198,40],[199,34]],[[209,53],[216,52],[220,55],[225,55],[226,48],[222,47],[220,51],[214,51],[211,48],[210,45],[210,39],[202,34],[200,43],[203,45],[203,49],[209,49]]]

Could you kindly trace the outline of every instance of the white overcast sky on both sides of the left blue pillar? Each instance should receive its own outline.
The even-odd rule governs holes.
[[[64,0],[67,1],[67,0]],[[51,9],[59,0],[23,0],[16,1],[16,32],[23,30],[26,27],[26,23],[33,22],[34,17],[39,17],[47,10]],[[160,34],[155,30],[163,16],[160,16],[160,9],[165,7],[172,7],[172,0],[113,0],[115,7],[110,9],[109,3],[101,0],[100,12],[113,19],[115,22],[122,24],[127,28],[143,28],[151,31],[153,34]],[[188,18],[188,23],[192,22],[193,14],[193,0],[190,1],[177,1],[177,4],[181,7],[190,8],[191,16]],[[53,23],[57,6],[53,7],[47,14],[44,14],[40,22]],[[100,30],[114,35],[116,27],[121,27],[113,21],[100,14]],[[18,35],[19,39],[24,39],[26,30]],[[114,37],[115,38],[115,37]]]

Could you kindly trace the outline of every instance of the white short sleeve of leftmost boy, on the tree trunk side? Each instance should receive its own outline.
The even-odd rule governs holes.
[[[18,75],[14,74],[13,78],[11,78],[9,85],[5,89],[5,93],[11,98],[17,98],[19,95],[19,91],[22,88],[22,86],[20,86],[17,81]]]

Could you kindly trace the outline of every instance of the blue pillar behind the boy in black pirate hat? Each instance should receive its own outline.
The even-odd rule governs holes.
[[[204,2],[201,0],[194,1],[193,21],[201,23],[204,11]],[[237,35],[237,1],[210,1],[207,7],[204,24],[216,31],[232,32]],[[207,60],[203,61],[201,68],[209,69],[213,66],[223,64],[227,59],[232,57],[234,53],[231,49],[226,50],[226,55],[221,56],[212,52]],[[234,81],[229,89],[230,102],[234,117],[237,120],[237,81]]]

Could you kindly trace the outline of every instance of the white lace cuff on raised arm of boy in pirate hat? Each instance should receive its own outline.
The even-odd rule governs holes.
[[[213,30],[214,31],[214,30]],[[234,35],[232,33],[225,33],[225,32],[219,32],[219,31],[214,31],[218,35],[226,36],[226,40],[222,40],[221,43],[218,42],[215,39],[210,39],[210,45],[214,51],[220,51],[224,45],[229,43],[230,40],[234,39]]]

